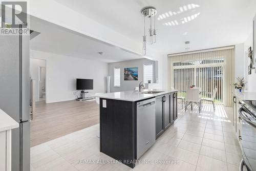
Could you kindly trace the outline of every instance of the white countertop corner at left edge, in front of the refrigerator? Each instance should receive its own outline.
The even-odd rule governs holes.
[[[15,129],[19,124],[0,109],[0,132]]]

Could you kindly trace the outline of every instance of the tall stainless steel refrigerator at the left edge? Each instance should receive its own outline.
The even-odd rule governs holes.
[[[0,35],[0,109],[19,123],[12,130],[12,171],[30,170],[29,36]]]

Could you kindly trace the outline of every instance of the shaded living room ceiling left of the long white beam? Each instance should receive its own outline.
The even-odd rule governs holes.
[[[45,20],[33,16],[30,16],[30,20],[30,28],[40,32],[38,36],[30,40],[30,49],[32,50],[102,62],[143,58],[141,55],[62,28]],[[103,52],[103,54],[100,55],[98,52]]]

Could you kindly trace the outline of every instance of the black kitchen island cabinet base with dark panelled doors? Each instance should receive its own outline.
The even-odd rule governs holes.
[[[138,159],[137,104],[145,100],[151,100],[151,102],[143,105],[152,105],[152,108],[154,105],[154,113],[148,114],[148,117],[151,116],[152,118],[152,115],[154,115],[155,124],[145,125],[155,126],[154,129],[152,129],[156,137],[154,141],[177,119],[177,91],[167,91],[166,94],[162,93],[154,96],[143,96],[143,98],[139,98],[138,100],[136,98],[132,100],[129,98],[127,98],[127,100],[125,98],[113,99],[106,95],[99,97],[100,152],[131,168],[135,167],[136,160]],[[144,116],[146,115],[147,114]],[[140,129],[141,126],[143,127],[143,125],[139,126]]]

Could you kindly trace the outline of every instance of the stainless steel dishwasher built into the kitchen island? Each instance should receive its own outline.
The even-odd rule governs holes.
[[[156,142],[156,99],[137,102],[137,159]]]

